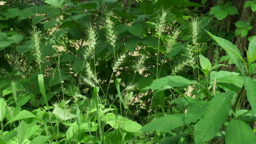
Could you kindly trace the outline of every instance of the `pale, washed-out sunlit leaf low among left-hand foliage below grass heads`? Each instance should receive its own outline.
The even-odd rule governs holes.
[[[53,110],[53,114],[59,118],[61,121],[66,121],[68,119],[72,119],[75,118],[76,116],[71,113],[69,110],[67,109],[62,109],[61,107],[57,106],[55,107],[55,109]]]

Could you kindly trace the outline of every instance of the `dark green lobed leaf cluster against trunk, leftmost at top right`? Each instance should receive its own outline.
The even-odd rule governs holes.
[[[211,8],[210,14],[213,14],[218,20],[224,19],[228,15],[238,14],[236,7],[231,6],[231,2],[220,4],[217,7]]]

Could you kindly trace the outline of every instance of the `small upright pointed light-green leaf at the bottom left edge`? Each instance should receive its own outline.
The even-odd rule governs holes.
[[[17,139],[18,139],[18,143],[21,144],[27,137],[27,128],[28,128],[28,124],[26,124],[23,120],[21,121],[21,123],[19,124],[17,130]]]

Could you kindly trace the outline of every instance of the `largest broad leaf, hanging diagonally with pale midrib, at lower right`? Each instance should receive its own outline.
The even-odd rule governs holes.
[[[225,123],[231,109],[234,92],[216,94],[207,106],[204,115],[195,125],[195,143],[211,140]]]

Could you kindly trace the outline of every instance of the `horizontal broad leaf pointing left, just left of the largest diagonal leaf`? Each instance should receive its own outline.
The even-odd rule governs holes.
[[[182,125],[185,125],[184,113],[175,113],[165,117],[156,118],[155,121],[144,125],[141,128],[141,131],[149,132],[157,130],[167,133]]]

